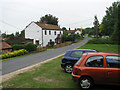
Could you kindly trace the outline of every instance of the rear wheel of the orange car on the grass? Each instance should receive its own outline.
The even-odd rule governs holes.
[[[93,80],[89,77],[81,77],[79,80],[79,86],[82,89],[90,89],[93,86]]]

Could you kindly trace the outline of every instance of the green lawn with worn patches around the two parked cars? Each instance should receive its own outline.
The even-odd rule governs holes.
[[[86,44],[80,48],[96,49],[101,52],[118,52],[118,45]],[[62,56],[50,62],[35,67],[30,71],[20,73],[14,78],[2,83],[3,88],[76,88],[77,83],[72,80],[71,74],[61,68]],[[95,86],[94,90],[111,89],[111,86]],[[112,88],[113,89],[113,88]]]

